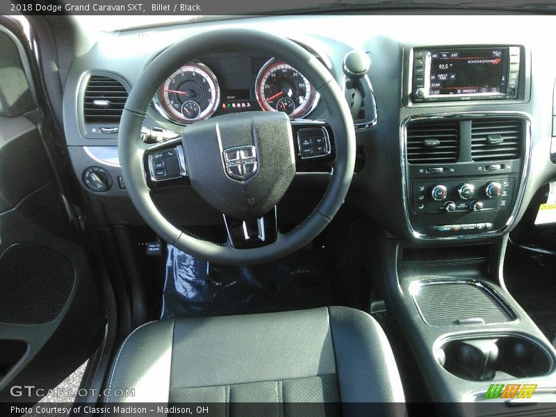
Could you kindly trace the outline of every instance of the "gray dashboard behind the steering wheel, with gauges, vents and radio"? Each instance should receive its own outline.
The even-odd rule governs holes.
[[[553,18],[474,16],[481,31],[469,31],[459,17],[419,16],[419,27],[435,31],[418,31],[416,23],[409,15],[306,15],[105,33],[74,60],[65,79],[65,131],[76,175],[101,202],[109,223],[140,224],[117,161],[117,117],[95,118],[106,109],[93,103],[102,97],[91,96],[95,88],[88,85],[117,92],[111,102],[117,110],[142,68],[188,34],[234,26],[278,31],[287,25],[295,28],[291,39],[328,68],[352,106],[357,173],[347,202],[384,234],[417,244],[500,236],[514,227],[535,191],[556,177],[550,161],[556,58],[547,53],[556,34]],[[348,94],[343,65],[353,50],[372,64],[366,87]],[[145,126],[163,136],[209,117],[261,110],[281,111],[291,120],[327,116],[310,80],[287,62],[229,51],[167,74]],[[309,163],[297,152],[303,169],[284,201],[291,222],[314,207],[311,197],[318,202],[331,174],[326,161]],[[109,177],[110,187],[91,188],[91,173]],[[184,204],[176,213],[181,224],[221,222],[186,184],[177,188]],[[160,198],[163,205],[176,197],[164,190]]]

